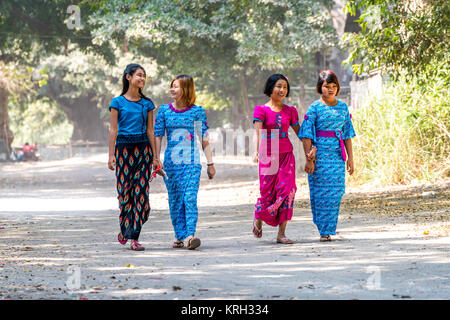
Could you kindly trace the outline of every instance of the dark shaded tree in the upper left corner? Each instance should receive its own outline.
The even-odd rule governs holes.
[[[18,85],[20,90],[20,82],[10,71],[12,67],[16,74],[29,74],[27,66],[36,66],[51,54],[68,54],[72,43],[113,62],[109,44],[93,44],[90,25],[83,23],[83,16],[80,16],[81,26],[68,22],[71,5],[78,5],[81,12],[90,8],[82,1],[72,0],[0,0],[0,144],[6,144],[8,149],[13,140],[8,123],[8,98],[12,87],[17,89]]]

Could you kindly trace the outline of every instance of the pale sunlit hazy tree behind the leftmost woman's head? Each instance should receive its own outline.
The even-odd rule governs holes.
[[[52,98],[74,124],[72,140],[105,142],[107,127],[105,112],[109,102],[121,92],[122,72],[130,61],[139,60],[151,77],[155,66],[151,59],[135,57],[115,50],[116,64],[109,65],[102,56],[84,53],[75,48],[68,55],[53,55],[43,59],[40,69],[47,70],[47,84],[40,95]],[[161,90],[152,81],[145,91],[152,89],[152,97]]]

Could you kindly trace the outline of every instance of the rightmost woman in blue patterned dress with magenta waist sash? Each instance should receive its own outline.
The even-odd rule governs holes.
[[[339,208],[345,193],[345,165],[353,174],[352,140],[355,130],[347,105],[337,100],[339,81],[331,70],[322,71],[316,85],[321,98],[313,102],[304,117],[298,137],[307,154],[317,147],[315,162],[306,161],[313,221],[320,241],[336,234]],[[348,159],[347,159],[348,156]]]

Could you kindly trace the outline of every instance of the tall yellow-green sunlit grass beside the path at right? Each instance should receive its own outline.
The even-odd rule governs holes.
[[[426,85],[403,77],[354,112],[351,180],[406,184],[450,177],[448,84],[448,76]]]

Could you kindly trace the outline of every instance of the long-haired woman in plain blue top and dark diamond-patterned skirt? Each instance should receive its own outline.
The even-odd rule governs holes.
[[[138,242],[142,225],[150,214],[149,177],[160,165],[153,159],[155,105],[142,89],[146,74],[138,64],[129,64],[123,73],[123,89],[112,99],[109,130],[108,167],[116,171],[120,209],[120,229],[117,240],[125,245],[131,239],[131,250],[145,248]]]

